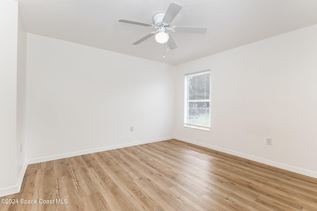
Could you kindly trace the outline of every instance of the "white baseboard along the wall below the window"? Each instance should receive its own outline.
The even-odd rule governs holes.
[[[302,175],[305,175],[305,176],[317,178],[317,172],[315,172],[315,171],[311,171],[311,170],[307,170],[307,169],[303,169],[303,168],[287,165],[287,164],[280,163],[280,162],[275,162],[275,161],[264,159],[264,158],[258,158],[258,157],[255,157],[255,156],[250,156],[250,155],[247,155],[247,154],[243,154],[243,153],[235,152],[235,151],[232,151],[232,150],[227,150],[227,149],[215,147],[215,146],[208,145],[208,144],[203,144],[203,143],[200,143],[200,142],[197,142],[197,141],[193,141],[193,140],[189,140],[189,139],[185,139],[185,138],[182,138],[182,137],[175,136],[174,139],[177,139],[177,140],[180,140],[180,141],[184,141],[184,142],[187,142],[187,143],[190,143],[190,144],[195,144],[195,145],[198,145],[198,146],[201,146],[201,147],[206,147],[208,149],[216,150],[216,151],[219,151],[219,152],[222,152],[222,153],[226,153],[226,154],[230,154],[230,155],[233,155],[233,156],[238,156],[240,158],[250,159],[250,160],[253,160],[253,161],[256,161],[256,162],[260,162],[260,163],[263,163],[263,164],[266,164],[266,165],[270,165],[270,166],[273,166],[273,167],[277,167],[277,168],[281,168],[281,169],[284,169],[284,170],[292,171],[294,173],[298,173],[298,174],[302,174]]]

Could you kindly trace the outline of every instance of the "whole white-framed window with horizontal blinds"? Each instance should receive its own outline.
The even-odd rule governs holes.
[[[184,126],[210,129],[210,71],[185,75]]]

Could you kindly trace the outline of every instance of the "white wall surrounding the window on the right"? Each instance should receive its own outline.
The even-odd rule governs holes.
[[[316,58],[313,25],[178,65],[174,135],[317,177]],[[211,69],[209,132],[183,127],[184,74],[206,69]]]

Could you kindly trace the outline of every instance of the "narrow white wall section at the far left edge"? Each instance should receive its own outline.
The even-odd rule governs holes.
[[[18,2],[0,1],[0,189],[16,185]],[[5,173],[3,173],[5,172]]]

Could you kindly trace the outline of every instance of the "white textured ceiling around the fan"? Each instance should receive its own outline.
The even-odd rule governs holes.
[[[165,52],[153,28],[171,0],[19,0],[26,31],[73,43],[177,65],[317,24],[317,0],[175,0],[183,6],[171,26],[207,27],[207,33],[170,32],[178,48]]]

